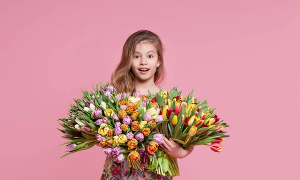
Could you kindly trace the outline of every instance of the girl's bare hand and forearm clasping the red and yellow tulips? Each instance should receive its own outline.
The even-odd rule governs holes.
[[[178,143],[174,142],[171,137],[169,140],[166,137],[163,137],[163,140],[164,142],[159,144],[159,149],[173,157],[183,158],[193,150],[193,146],[184,149]]]

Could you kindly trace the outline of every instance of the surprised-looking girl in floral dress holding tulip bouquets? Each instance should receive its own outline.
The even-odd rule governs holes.
[[[159,91],[160,84],[165,77],[163,65],[163,45],[157,34],[149,30],[139,30],[131,34],[122,51],[121,60],[111,76],[118,92],[140,91],[148,94]],[[193,149],[190,146],[183,149],[171,138],[164,137],[160,149],[177,158],[187,156]],[[116,166],[112,160],[106,158],[101,179],[172,179],[171,176],[161,176],[148,170],[133,168],[130,170],[126,159],[124,165]]]

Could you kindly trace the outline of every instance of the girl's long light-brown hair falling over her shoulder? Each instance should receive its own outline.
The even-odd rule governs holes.
[[[159,67],[154,73],[154,84],[159,85],[165,79],[165,69],[163,64],[164,47],[159,36],[149,30],[138,30],[132,33],[123,45],[121,60],[114,72],[111,74],[110,83],[114,83],[118,92],[135,91],[134,74],[131,69],[131,58],[137,43],[146,41],[151,43],[157,51]]]

